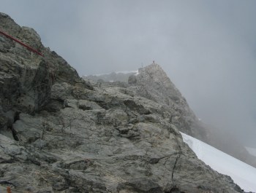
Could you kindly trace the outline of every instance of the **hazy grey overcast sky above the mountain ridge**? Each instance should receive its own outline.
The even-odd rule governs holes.
[[[80,75],[159,63],[197,117],[256,146],[256,1],[0,0]]]

